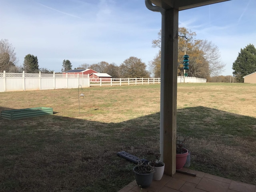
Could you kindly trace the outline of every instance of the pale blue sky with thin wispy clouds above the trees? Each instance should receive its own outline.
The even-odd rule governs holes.
[[[179,12],[179,27],[218,46],[232,75],[232,63],[248,44],[256,46],[256,0],[231,0]],[[27,54],[39,67],[60,72],[101,61],[120,65],[130,56],[148,65],[161,28],[161,14],[144,0],[0,0],[0,39],[8,39],[22,65]]]

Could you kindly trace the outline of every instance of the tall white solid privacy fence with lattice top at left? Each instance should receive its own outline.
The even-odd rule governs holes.
[[[0,73],[0,92],[90,87],[88,75]]]

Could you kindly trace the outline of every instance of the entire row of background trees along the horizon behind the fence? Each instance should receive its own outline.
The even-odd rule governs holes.
[[[219,76],[225,64],[220,61],[220,52],[216,45],[207,40],[197,40],[196,33],[186,28],[179,28],[178,35],[178,76],[183,76],[183,56],[188,54],[189,70],[186,70],[188,76],[206,78],[208,82],[230,82],[230,76]],[[149,71],[146,70],[146,64],[134,56],[127,58],[119,66],[102,61],[96,64],[81,64],[74,69],[91,68],[99,73],[107,73],[113,78],[149,78],[150,76],[158,78],[161,75],[161,31],[158,33],[158,39],[152,40],[152,46],[159,48],[159,51],[149,62]],[[0,40],[0,72],[38,73],[41,71],[42,73],[53,73],[53,70],[39,68],[38,58],[32,54],[27,54],[24,57],[22,66],[17,64],[15,48],[8,40]],[[70,60],[64,59],[61,72],[71,69]],[[256,48],[254,45],[249,44],[244,49],[241,48],[232,69],[234,82],[244,82],[244,76],[256,72]]]

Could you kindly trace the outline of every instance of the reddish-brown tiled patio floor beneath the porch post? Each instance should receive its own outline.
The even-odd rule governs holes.
[[[164,175],[160,181],[152,181],[142,192],[256,192],[256,186],[214,176],[211,174],[183,169],[195,173],[196,177],[176,173],[173,177]],[[140,192],[135,180],[119,192]]]

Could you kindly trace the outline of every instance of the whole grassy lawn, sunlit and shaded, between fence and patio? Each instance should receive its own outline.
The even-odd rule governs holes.
[[[112,192],[134,180],[125,150],[159,151],[160,85],[1,92],[0,111],[54,115],[0,119],[0,191]],[[178,84],[177,134],[190,168],[256,185],[256,84]]]

